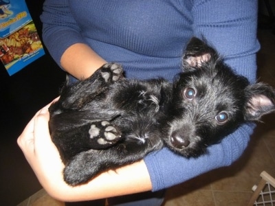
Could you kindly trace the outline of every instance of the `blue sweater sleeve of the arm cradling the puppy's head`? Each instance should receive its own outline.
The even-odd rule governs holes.
[[[257,1],[193,1],[192,30],[206,38],[236,73],[256,80]],[[250,140],[254,124],[245,124],[208,148],[198,158],[186,159],[167,148],[148,155],[144,161],[151,176],[153,191],[183,183],[210,170],[230,165],[238,159]]]

